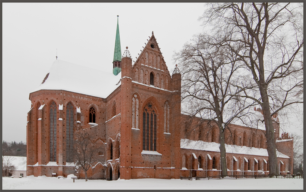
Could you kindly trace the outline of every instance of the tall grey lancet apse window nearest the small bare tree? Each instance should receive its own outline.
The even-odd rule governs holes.
[[[66,162],[73,161],[73,106],[69,102],[66,110]]]

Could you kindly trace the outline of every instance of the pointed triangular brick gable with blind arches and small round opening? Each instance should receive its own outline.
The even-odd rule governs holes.
[[[137,59],[134,65],[132,66],[132,79],[139,83],[146,84],[146,82],[144,82],[144,80],[141,79],[140,76],[143,76],[145,79],[145,77],[150,76],[150,73],[152,72],[155,77],[159,78],[159,82],[165,80],[166,85],[168,82],[170,83],[171,76],[162,56],[162,52],[160,51],[159,45],[155,39],[153,31],[152,36],[150,37],[150,39],[147,40],[148,42],[146,42],[146,45],[142,47],[141,53],[139,55],[136,55]],[[141,70],[143,70],[143,72],[141,72]],[[159,85],[155,87],[162,88],[161,83],[159,83]],[[164,88],[166,89],[167,87]]]

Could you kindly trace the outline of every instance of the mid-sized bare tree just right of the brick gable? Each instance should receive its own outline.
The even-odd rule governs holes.
[[[200,117],[202,121],[210,119],[217,124],[222,176],[226,176],[225,130],[233,119],[247,115],[243,111],[254,105],[254,101],[235,96],[239,90],[231,82],[239,78],[242,66],[238,65],[240,60],[232,50],[219,44],[225,37],[218,37],[219,34],[214,37],[196,35],[174,58],[182,73],[182,110],[191,117],[186,122],[190,123],[193,117]],[[236,49],[240,47],[236,46]],[[213,129],[212,126],[210,128]],[[186,125],[185,129],[185,132],[188,131]]]

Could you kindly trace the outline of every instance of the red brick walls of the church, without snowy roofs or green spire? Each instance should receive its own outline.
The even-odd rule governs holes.
[[[180,175],[190,175],[191,169],[194,170],[193,175],[198,176],[219,174],[218,152],[181,148],[181,138],[218,142],[218,131],[199,133],[200,129],[196,127],[186,132],[186,127],[181,126],[189,124],[192,127],[195,123],[185,123],[186,116],[181,115],[181,75],[177,69],[170,75],[153,33],[134,65],[130,57],[123,57],[121,68],[121,85],[106,98],[66,90],[37,90],[30,93],[32,108],[28,112],[27,124],[27,175],[52,176],[52,173],[56,173],[56,176],[75,174],[84,178],[84,172],[75,170],[73,162],[67,162],[67,126],[73,126],[74,138],[76,130],[86,129],[92,142],[102,146],[99,161],[92,164],[87,172],[91,179],[178,179]],[[103,83],[99,83],[99,86],[103,91]],[[55,103],[56,110],[51,110],[52,103]],[[73,124],[67,120],[69,103],[73,106]],[[50,118],[51,114],[55,114],[53,119]],[[95,122],[91,122],[92,118],[95,118]],[[204,122],[202,126],[207,126],[207,123]],[[56,128],[51,129],[50,124]],[[264,131],[230,126],[236,130],[237,137],[234,141],[229,139],[227,144],[266,148]],[[51,130],[56,131],[53,137]],[[275,133],[277,136],[278,131],[279,128]],[[241,140],[244,134],[248,138]],[[227,133],[230,138],[229,135]],[[54,141],[52,146],[55,152],[52,154],[56,162],[50,161],[51,139]],[[284,144],[279,143],[279,146],[282,148]],[[286,147],[289,150],[279,151],[290,156],[290,159],[280,160],[285,164],[284,172],[292,172],[292,145]],[[207,154],[215,158],[214,164]],[[182,167],[183,156],[185,169]],[[199,156],[202,170],[198,168]],[[233,156],[238,163],[234,162]],[[250,159],[251,171],[242,168],[245,166],[244,157]],[[227,152],[229,173],[259,174],[254,157]],[[267,157],[255,158],[263,167],[261,172],[265,171],[263,158],[268,160]]]

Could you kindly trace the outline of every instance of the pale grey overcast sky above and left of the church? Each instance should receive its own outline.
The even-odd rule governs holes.
[[[172,75],[172,55],[203,30],[203,12],[203,3],[2,3],[2,140],[26,142],[29,94],[56,52],[60,60],[112,72],[119,15],[121,52],[128,46],[136,61],[154,31]]]

